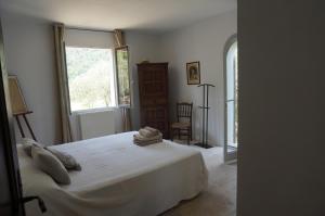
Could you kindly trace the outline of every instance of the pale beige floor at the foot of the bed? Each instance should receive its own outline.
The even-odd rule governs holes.
[[[193,147],[198,148],[198,147]],[[198,148],[209,170],[209,186],[160,216],[235,216],[237,165],[223,163],[223,149]]]

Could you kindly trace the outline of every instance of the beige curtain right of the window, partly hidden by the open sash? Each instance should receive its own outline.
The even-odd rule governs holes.
[[[115,48],[120,48],[126,46],[125,35],[122,30],[115,29],[114,30],[114,43]],[[132,130],[131,126],[131,109],[129,106],[122,106],[121,110],[121,119],[122,119],[122,131]]]

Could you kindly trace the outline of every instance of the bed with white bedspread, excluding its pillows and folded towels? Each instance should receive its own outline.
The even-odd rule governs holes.
[[[57,185],[36,168],[18,149],[24,195],[43,199],[51,216],[151,216],[196,196],[207,185],[202,153],[164,140],[138,147],[135,132],[82,140],[51,148],[81,164],[69,171],[72,183]],[[27,216],[42,215],[37,202],[25,205]]]

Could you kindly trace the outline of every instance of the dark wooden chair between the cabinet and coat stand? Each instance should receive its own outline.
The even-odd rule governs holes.
[[[173,140],[174,131],[178,131],[178,137],[187,137],[187,144],[192,140],[192,110],[193,103],[177,103],[177,123],[170,126],[171,140]]]

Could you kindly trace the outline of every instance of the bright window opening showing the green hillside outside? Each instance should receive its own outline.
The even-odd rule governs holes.
[[[70,110],[115,106],[112,49],[66,47]]]

